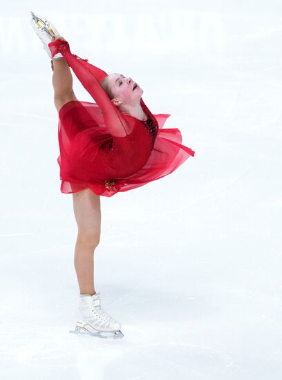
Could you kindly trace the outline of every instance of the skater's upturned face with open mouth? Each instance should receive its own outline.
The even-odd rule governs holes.
[[[130,77],[115,73],[110,74],[108,80],[115,99],[124,104],[130,104],[134,99],[140,100],[143,90]]]

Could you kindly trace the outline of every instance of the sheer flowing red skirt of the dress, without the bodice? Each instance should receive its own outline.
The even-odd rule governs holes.
[[[162,128],[167,117],[170,115],[153,114],[158,121],[159,129],[146,164],[126,178],[109,179],[105,173],[106,168],[103,166],[100,155],[97,153],[99,149],[103,149],[104,151],[105,147],[111,144],[112,141],[111,135],[104,129],[100,108],[97,107],[97,104],[91,102],[79,102],[88,110],[89,117],[85,117],[84,112],[81,115],[76,112],[77,119],[75,120],[72,113],[68,113],[71,110],[72,102],[76,101],[64,104],[59,110],[60,155],[57,158],[57,162],[60,166],[62,193],[75,193],[84,189],[91,189],[96,195],[111,197],[116,193],[136,189],[169,175],[173,171],[176,171],[189,157],[194,156],[195,152],[191,148],[182,145],[182,135],[178,128]],[[66,118],[68,119],[67,131],[64,129]],[[79,142],[73,144],[74,139],[78,139],[77,141]],[[82,140],[84,144],[82,144]],[[68,146],[70,149],[75,149],[75,146],[77,146],[77,149],[81,149],[81,146],[84,146],[85,160],[91,160],[92,173],[89,171],[89,165],[83,165],[81,160],[79,162],[75,162],[74,160],[73,162],[68,162],[71,157],[71,155],[68,155]],[[90,151],[91,155],[89,155]],[[81,155],[81,152],[79,154]],[[66,165],[62,165],[62,161],[68,162],[68,167],[71,168],[73,168],[73,165],[77,165],[77,171],[82,173],[82,175],[79,175],[80,178],[73,178],[73,175],[70,175],[71,171],[65,170]],[[86,172],[83,173],[83,171]],[[84,178],[84,180],[81,180],[81,178]]]

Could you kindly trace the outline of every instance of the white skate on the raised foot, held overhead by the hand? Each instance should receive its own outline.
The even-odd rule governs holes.
[[[39,39],[41,39],[41,42],[44,45],[44,49],[46,50],[46,53],[48,54],[48,56],[50,58],[52,58],[48,44],[49,44],[49,42],[52,41],[52,37],[59,35],[59,32],[57,31],[55,26],[53,26],[53,24],[50,23],[50,21],[44,19],[44,17],[35,15],[31,11],[30,11],[30,13],[31,13],[30,23],[32,25],[32,28],[35,30]],[[53,59],[60,59],[62,57],[63,56],[61,53],[57,53],[57,54],[55,54]]]

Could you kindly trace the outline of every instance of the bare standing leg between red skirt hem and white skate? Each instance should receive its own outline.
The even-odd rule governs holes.
[[[95,294],[94,251],[100,243],[100,196],[90,189],[73,193],[73,210],[78,227],[75,244],[75,271],[80,294]]]

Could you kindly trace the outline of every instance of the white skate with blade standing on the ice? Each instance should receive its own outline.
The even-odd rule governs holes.
[[[102,310],[100,292],[96,292],[93,296],[79,295],[78,315],[75,330],[70,332],[111,339],[124,336],[120,331],[122,327],[120,322]]]

